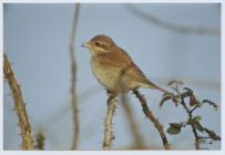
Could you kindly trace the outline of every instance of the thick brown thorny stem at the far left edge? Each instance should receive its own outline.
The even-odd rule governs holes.
[[[31,136],[31,126],[29,123],[29,117],[25,111],[24,102],[22,100],[22,93],[6,54],[3,54],[3,73],[8,81],[14,101],[13,110],[17,112],[19,126],[21,128],[22,149],[32,149],[33,141]]]

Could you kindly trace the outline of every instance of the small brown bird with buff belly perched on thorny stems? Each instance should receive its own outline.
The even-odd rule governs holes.
[[[168,93],[151,82],[132,58],[110,37],[98,34],[82,46],[89,49],[92,72],[108,92],[121,94],[144,87]]]

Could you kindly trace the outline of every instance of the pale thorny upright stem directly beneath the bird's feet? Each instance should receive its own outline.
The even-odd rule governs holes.
[[[115,107],[116,107],[115,95],[110,94],[108,99],[108,113],[105,117],[104,141],[102,145],[104,151],[112,149],[112,141],[115,138],[112,131],[112,118],[115,113]]]

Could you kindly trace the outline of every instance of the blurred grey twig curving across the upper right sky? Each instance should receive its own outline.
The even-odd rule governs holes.
[[[139,17],[140,19],[142,19],[151,24],[167,29],[173,32],[192,33],[192,34],[198,34],[198,35],[203,35],[203,34],[221,35],[221,30],[218,30],[218,29],[176,24],[176,23],[172,23],[170,21],[160,19],[158,17],[153,16],[151,13],[146,13],[146,12],[142,11],[141,9],[133,7],[132,4],[124,4],[124,6],[133,16]]]

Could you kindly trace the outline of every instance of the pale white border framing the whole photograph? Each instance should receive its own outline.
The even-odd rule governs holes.
[[[83,3],[88,3],[88,2],[110,2],[110,3],[114,3],[114,2],[133,2],[133,3],[145,3],[145,2],[178,2],[178,3],[187,3],[187,2],[192,2],[192,3],[198,3],[198,2],[222,2],[222,0],[190,0],[190,1],[178,1],[178,0],[175,0],[175,1],[171,1],[171,0],[111,0],[111,1],[104,1],[104,0],[99,0],[99,1],[94,1],[94,0],[79,0],[79,1],[74,1],[74,0],[3,0],[4,3],[71,3],[71,2],[83,2]],[[224,3],[222,2],[222,28],[225,27],[224,24],[224,13],[225,11],[223,10],[224,9]],[[2,2],[0,2],[0,46],[1,46],[1,50],[3,52],[3,4]],[[224,39],[224,30],[222,30],[222,40]],[[224,75],[224,68],[225,66],[225,51],[224,51],[224,45],[225,45],[225,42],[222,41],[222,132],[225,131],[225,126],[224,126],[224,105],[223,103],[224,102],[224,97],[223,97],[223,94],[225,93],[224,92],[224,87],[225,87],[225,83],[223,82],[223,79],[225,79],[225,75]],[[2,53],[0,54],[0,68],[2,69]],[[53,154],[53,155],[61,155],[61,154],[92,154],[92,155],[103,155],[103,154],[108,154],[108,155],[111,155],[111,154],[116,154],[116,155],[126,155],[126,154],[151,154],[151,153],[157,153],[157,154],[171,154],[171,155],[174,155],[174,154],[177,154],[177,155],[181,155],[181,152],[182,154],[188,154],[190,153],[196,153],[196,154],[208,154],[208,155],[212,155],[212,154],[225,154],[223,153],[224,152],[224,134],[222,133],[222,151],[170,151],[170,152],[165,152],[165,151],[110,151],[110,152],[103,152],[103,151],[75,151],[75,152],[72,152],[72,151],[45,151],[45,152],[37,152],[37,151],[32,151],[32,152],[22,152],[22,151],[2,151],[3,148],[3,71],[0,70],[0,103],[1,106],[0,106],[0,124],[1,124],[1,127],[0,127],[0,154],[30,154],[30,153],[40,153],[40,154]]]

